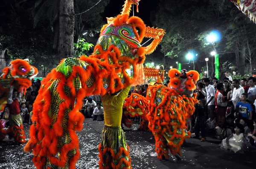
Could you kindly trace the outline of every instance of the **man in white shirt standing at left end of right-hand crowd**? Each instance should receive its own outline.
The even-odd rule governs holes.
[[[203,79],[204,84],[206,85],[206,104],[205,107],[207,107],[207,112],[206,114],[208,117],[211,119],[211,121],[215,118],[215,89],[212,85],[210,85],[210,80],[209,78],[204,78]]]

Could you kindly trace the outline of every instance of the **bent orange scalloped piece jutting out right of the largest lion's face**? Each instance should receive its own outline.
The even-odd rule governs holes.
[[[145,54],[151,54],[156,48],[157,45],[163,39],[163,35],[165,34],[165,30],[160,28],[150,28],[149,26],[146,27],[145,30],[145,37],[154,39],[150,45],[144,47]]]

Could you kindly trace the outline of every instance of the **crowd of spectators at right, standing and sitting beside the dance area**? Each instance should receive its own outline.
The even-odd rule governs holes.
[[[206,135],[214,134],[222,140],[221,148],[246,151],[247,146],[256,145],[256,79],[232,79],[228,72],[225,75],[222,81],[203,78],[197,82],[194,138],[201,132],[201,141],[205,141]],[[190,125],[188,128],[192,130]],[[234,145],[238,140],[243,144]]]

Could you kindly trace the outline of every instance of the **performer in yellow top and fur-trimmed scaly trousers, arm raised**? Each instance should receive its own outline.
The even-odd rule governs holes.
[[[99,169],[131,169],[129,146],[121,128],[122,107],[131,85],[119,94],[106,94],[102,97],[105,126],[99,144]]]

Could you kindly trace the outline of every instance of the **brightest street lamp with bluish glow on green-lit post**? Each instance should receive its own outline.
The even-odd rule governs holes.
[[[206,38],[206,40],[210,43],[212,43],[212,46],[214,48],[214,51],[211,52],[211,55],[215,58],[215,76],[219,80],[220,79],[220,62],[219,62],[219,55],[217,54],[216,48],[214,46],[214,42],[218,42],[221,39],[221,33],[220,31],[214,30],[212,31]]]

